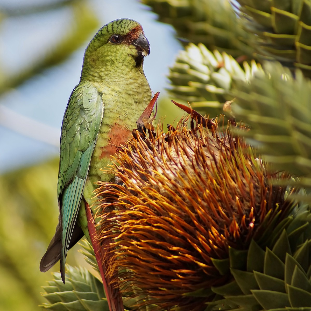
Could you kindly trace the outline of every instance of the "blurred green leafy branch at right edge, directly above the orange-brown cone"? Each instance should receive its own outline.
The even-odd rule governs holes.
[[[247,140],[273,169],[311,188],[311,81],[299,70],[294,78],[280,63],[265,63],[264,72],[248,84],[235,81],[232,112],[251,127]]]

